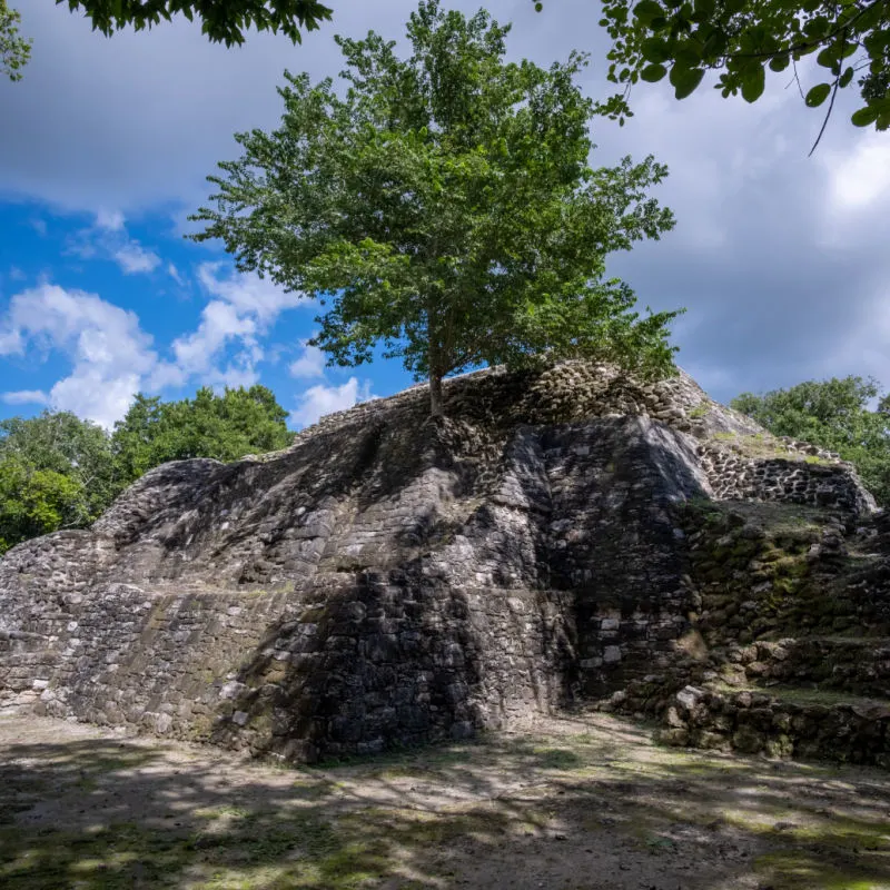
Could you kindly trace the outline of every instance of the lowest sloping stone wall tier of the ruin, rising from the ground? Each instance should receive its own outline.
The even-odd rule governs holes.
[[[468,735],[563,703],[573,661],[558,594],[488,593],[112,585],[0,640],[6,698],[296,759]]]

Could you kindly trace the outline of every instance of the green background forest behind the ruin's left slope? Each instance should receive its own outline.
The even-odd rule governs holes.
[[[112,433],[70,412],[0,421],[0,554],[60,528],[85,528],[128,485],[168,461],[278,451],[294,439],[265,386],[199,389],[161,402],[137,395]]]

